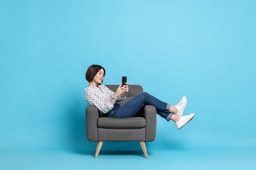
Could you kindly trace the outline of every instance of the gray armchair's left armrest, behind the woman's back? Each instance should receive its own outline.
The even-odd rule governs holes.
[[[86,108],[86,129],[87,139],[90,142],[98,141],[98,109],[95,106],[89,106]]]

